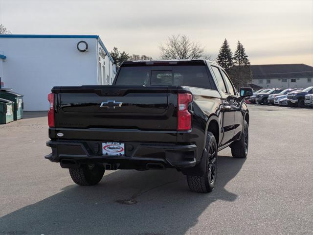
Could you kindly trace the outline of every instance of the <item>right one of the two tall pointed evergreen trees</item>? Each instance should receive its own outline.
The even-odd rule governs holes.
[[[238,41],[237,49],[233,57],[234,66],[228,71],[235,87],[246,87],[252,80],[252,71],[250,70],[250,62],[246,55],[245,47]]]

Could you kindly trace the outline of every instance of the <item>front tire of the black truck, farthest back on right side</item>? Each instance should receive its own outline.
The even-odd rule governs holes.
[[[249,128],[248,123],[244,120],[244,131],[240,140],[234,141],[231,145],[231,155],[234,158],[246,158],[249,146]]]

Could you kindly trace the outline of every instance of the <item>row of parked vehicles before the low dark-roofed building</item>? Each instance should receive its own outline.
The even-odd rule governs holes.
[[[289,89],[261,89],[246,99],[251,104],[272,104],[313,108],[313,87]]]

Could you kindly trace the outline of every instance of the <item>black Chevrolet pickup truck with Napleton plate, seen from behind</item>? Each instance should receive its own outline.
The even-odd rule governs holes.
[[[226,72],[206,60],[129,61],[112,86],[54,87],[46,159],[95,185],[105,170],[176,168],[210,192],[218,151],[246,158],[249,114]]]

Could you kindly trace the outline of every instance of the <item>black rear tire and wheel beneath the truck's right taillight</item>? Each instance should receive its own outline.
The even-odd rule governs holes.
[[[217,176],[217,144],[214,135],[207,133],[205,172],[202,176],[187,175],[188,187],[193,192],[207,193],[215,187]]]

